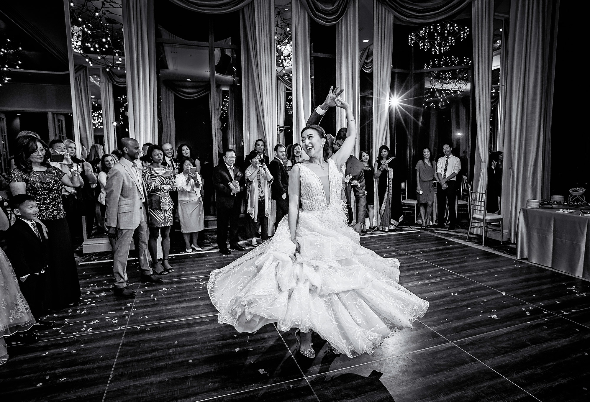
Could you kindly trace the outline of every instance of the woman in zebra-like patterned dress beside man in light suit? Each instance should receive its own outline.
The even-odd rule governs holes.
[[[164,151],[159,145],[150,145],[147,155],[152,163],[143,168],[142,176],[148,190],[148,249],[152,256],[152,268],[158,275],[167,275],[174,268],[168,262],[170,252],[170,228],[172,228],[172,198],[176,190],[172,169],[162,164]],[[162,263],[158,261],[158,236],[162,236]]]

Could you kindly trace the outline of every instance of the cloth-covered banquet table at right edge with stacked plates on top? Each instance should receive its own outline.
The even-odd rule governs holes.
[[[558,211],[520,210],[516,257],[590,279],[590,216]]]

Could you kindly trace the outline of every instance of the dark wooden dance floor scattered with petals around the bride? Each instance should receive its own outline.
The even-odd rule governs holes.
[[[401,262],[400,284],[430,302],[414,329],[373,355],[296,350],[294,331],[238,334],[217,323],[217,252],[171,261],[159,286],[112,293],[110,263],[80,266],[83,302],[40,342],[9,347],[0,395],[16,401],[588,401],[589,282],[427,232],[367,236]],[[242,255],[242,253],[239,253]],[[133,263],[130,278],[139,273]]]

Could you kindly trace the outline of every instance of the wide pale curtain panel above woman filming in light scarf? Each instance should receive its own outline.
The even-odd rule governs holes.
[[[244,154],[264,139],[270,152],[277,143],[277,80],[274,3],[253,0],[241,10]]]

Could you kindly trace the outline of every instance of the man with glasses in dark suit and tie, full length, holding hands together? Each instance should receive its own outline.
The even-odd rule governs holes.
[[[223,162],[213,168],[215,186],[215,207],[217,209],[217,245],[219,252],[231,254],[227,247],[227,223],[230,221],[230,248],[244,250],[238,244],[238,228],[242,194],[246,185],[245,177],[235,166],[235,151],[227,149]]]

